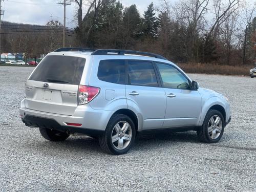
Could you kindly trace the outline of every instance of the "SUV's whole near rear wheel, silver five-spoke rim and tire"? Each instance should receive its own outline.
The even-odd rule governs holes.
[[[135,134],[135,125],[130,117],[114,114],[106,126],[104,134],[99,137],[99,144],[106,153],[125,154],[133,145]]]

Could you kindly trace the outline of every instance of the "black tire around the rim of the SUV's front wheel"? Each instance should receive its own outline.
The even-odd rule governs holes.
[[[215,115],[218,115],[221,118],[222,130],[221,130],[220,135],[219,135],[218,138],[212,139],[209,136],[209,134],[208,134],[208,123],[209,123],[210,118],[215,116]],[[202,127],[200,127],[197,130],[197,136],[200,139],[200,141],[202,141],[202,142],[205,142],[205,143],[217,143],[221,139],[221,137],[223,135],[224,127],[225,127],[225,121],[224,121],[224,117],[223,117],[222,113],[217,111],[217,110],[209,110],[207,112],[205,118],[204,118],[204,122],[203,122]]]

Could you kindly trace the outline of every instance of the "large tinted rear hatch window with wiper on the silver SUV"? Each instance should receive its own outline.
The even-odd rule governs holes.
[[[86,59],[81,57],[49,55],[40,62],[29,79],[77,85],[80,83],[85,63]]]

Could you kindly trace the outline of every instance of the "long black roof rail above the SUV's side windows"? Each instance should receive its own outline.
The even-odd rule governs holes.
[[[165,57],[155,54],[155,53],[147,53],[141,51],[132,51],[132,50],[120,50],[120,49],[98,49],[95,50],[92,55],[124,55],[124,54],[131,54],[131,55],[140,55],[140,56],[147,56],[147,57],[155,57],[158,59],[167,60]]]

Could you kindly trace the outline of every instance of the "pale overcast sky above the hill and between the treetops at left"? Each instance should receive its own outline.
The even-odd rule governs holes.
[[[5,0],[2,2],[2,9],[5,10],[2,19],[8,22],[39,25],[46,25],[51,19],[63,23],[63,6],[58,5],[58,2],[63,0]],[[136,4],[141,15],[151,2],[155,5],[159,4],[159,0],[120,0],[120,2],[124,7]],[[67,6],[67,27],[76,26],[73,21],[75,11],[75,5]]]

